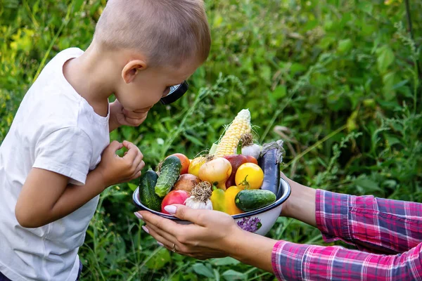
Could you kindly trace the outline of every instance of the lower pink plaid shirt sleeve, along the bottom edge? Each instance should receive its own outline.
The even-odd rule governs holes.
[[[279,241],[272,266],[279,280],[422,280],[422,243],[403,254],[381,255]]]

